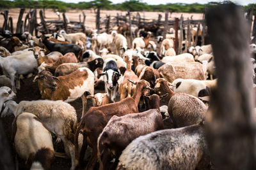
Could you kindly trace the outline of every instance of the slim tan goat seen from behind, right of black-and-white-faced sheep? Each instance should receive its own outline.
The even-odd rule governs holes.
[[[132,59],[129,55],[123,55],[124,61],[127,63],[127,69],[124,73],[124,80],[120,84],[119,92],[120,92],[120,100],[125,97],[131,97],[136,89],[136,85],[132,84],[129,80],[138,81],[138,76],[131,69]]]

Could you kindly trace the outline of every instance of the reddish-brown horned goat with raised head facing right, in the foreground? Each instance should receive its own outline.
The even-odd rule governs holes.
[[[130,80],[131,81],[131,80]],[[106,124],[113,115],[124,116],[129,113],[138,113],[138,103],[140,101],[141,95],[148,94],[149,90],[152,90],[149,87],[149,83],[145,80],[140,80],[137,82],[131,81],[136,84],[136,91],[132,97],[127,97],[122,101],[106,104],[104,106],[99,106],[97,108],[92,107],[88,112],[81,118],[81,122],[77,127],[76,131],[76,164],[83,160],[84,152],[89,145],[92,146],[92,157],[88,162],[86,169],[93,169],[97,162],[97,139],[99,134],[102,132]],[[82,133],[83,146],[81,148],[81,153],[78,152],[78,135]]]

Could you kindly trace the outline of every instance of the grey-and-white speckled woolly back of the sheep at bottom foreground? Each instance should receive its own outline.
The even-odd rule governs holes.
[[[122,152],[117,170],[206,169],[210,164],[204,125],[152,132]]]

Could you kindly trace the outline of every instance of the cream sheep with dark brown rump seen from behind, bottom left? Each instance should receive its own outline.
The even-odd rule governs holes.
[[[36,115],[24,112],[15,117],[12,139],[19,157],[32,164],[31,169],[51,169],[55,159],[52,136]]]

